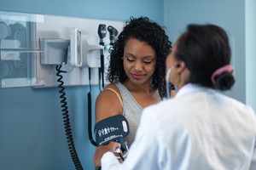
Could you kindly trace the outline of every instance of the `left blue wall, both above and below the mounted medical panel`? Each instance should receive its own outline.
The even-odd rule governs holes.
[[[159,0],[0,0],[0,10],[120,21],[144,15],[160,24],[162,9]],[[88,87],[66,89],[73,138],[86,170],[94,169],[95,150],[87,132],[88,91]],[[93,87],[92,101],[98,93]],[[57,88],[0,88],[0,169],[74,169],[61,114]]]

